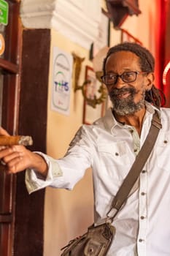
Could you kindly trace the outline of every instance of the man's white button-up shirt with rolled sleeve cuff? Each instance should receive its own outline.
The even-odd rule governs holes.
[[[147,103],[140,138],[134,127],[117,123],[111,110],[93,125],[83,125],[63,159],[42,154],[49,166],[46,181],[27,170],[28,192],[47,186],[73,189],[92,167],[95,222],[105,218],[147,137],[153,113],[154,107]],[[163,127],[139,186],[113,221],[116,234],[108,256],[170,255],[170,109],[161,108],[160,115]]]

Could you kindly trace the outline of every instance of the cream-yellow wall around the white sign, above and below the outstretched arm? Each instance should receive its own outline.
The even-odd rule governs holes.
[[[69,142],[82,124],[83,98],[81,91],[71,94],[71,110],[69,116],[61,115],[50,109],[52,89],[53,47],[57,46],[68,53],[76,53],[85,57],[80,85],[85,78],[85,65],[89,53],[79,45],[66,39],[56,31],[51,31],[51,56],[49,77],[49,104],[47,113],[47,153],[52,157],[62,157]],[[88,189],[87,189],[88,188]],[[85,232],[85,227],[93,222],[93,188],[91,172],[85,175],[72,192],[63,189],[47,188],[45,197],[45,255],[60,255],[60,248],[74,236]]]

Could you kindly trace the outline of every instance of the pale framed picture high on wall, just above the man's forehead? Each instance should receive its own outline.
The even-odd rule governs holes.
[[[98,27],[98,38],[91,44],[90,60],[98,53],[104,46],[109,46],[110,40],[110,19],[107,17],[104,9],[101,9],[101,23]]]

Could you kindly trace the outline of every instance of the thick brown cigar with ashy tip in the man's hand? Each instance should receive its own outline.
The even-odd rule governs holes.
[[[33,144],[33,140],[31,138],[31,136],[22,136],[22,135],[4,136],[4,135],[0,135],[0,146],[12,146],[12,145],[31,146],[32,144]]]

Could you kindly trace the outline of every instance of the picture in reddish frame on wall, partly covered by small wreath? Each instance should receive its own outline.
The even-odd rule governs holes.
[[[92,67],[86,66],[85,80],[90,81],[86,84],[85,96],[92,100],[95,99],[95,97],[98,99],[101,95],[100,92],[98,92],[98,89],[100,89],[101,86],[101,82],[96,78],[96,74]],[[85,99],[83,109],[83,124],[93,124],[93,121],[96,121],[96,119],[104,116],[104,111],[105,102],[97,104],[95,108],[93,108],[93,106],[90,105]]]

